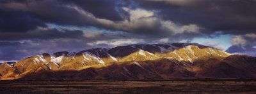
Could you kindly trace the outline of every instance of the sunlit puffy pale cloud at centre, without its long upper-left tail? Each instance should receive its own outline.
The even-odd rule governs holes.
[[[123,30],[137,34],[156,34],[158,35],[175,35],[183,32],[198,33],[201,29],[198,25],[175,24],[171,20],[162,20],[155,15],[155,11],[123,8],[130,14],[129,19],[120,22],[111,22],[109,20],[99,20],[106,27]]]

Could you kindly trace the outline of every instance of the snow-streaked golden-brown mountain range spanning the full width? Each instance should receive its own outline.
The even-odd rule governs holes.
[[[1,80],[255,78],[256,58],[197,43],[43,53],[0,65]]]

